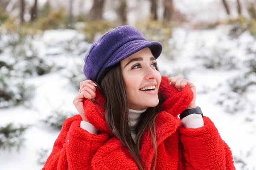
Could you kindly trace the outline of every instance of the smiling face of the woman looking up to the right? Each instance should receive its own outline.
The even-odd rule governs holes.
[[[158,105],[161,74],[156,70],[156,59],[148,47],[123,59],[121,70],[129,108],[143,110]]]

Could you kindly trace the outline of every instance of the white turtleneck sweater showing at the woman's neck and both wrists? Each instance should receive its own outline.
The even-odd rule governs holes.
[[[137,124],[140,115],[145,112],[147,109],[142,111],[137,111],[133,109],[129,109],[129,127],[131,129],[131,137],[136,141],[136,133],[135,133],[135,125]],[[199,114],[191,114],[189,116],[184,117],[180,124],[186,128],[198,128],[204,126],[204,120]],[[87,130],[91,134],[97,134],[98,130],[89,122],[81,121],[80,127],[84,130]]]

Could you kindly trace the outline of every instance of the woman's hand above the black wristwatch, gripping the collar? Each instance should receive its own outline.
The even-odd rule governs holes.
[[[185,85],[188,85],[194,93],[194,98],[193,98],[192,102],[186,107],[186,109],[196,108],[196,105],[195,105],[196,89],[195,89],[195,85],[192,82],[189,82],[189,80],[182,79],[178,76],[170,77],[168,82],[169,82],[169,84],[171,84],[175,88],[177,88],[179,91],[182,91],[183,88],[185,88]]]

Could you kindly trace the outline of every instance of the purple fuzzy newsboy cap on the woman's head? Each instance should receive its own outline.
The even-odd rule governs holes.
[[[100,83],[112,65],[145,47],[150,48],[155,58],[160,56],[163,48],[160,42],[147,41],[133,26],[116,27],[93,42],[84,58],[84,75]]]

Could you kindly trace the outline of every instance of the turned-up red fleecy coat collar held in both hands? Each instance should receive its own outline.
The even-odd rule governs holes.
[[[177,117],[193,99],[193,92],[188,86],[186,86],[183,91],[178,91],[172,85],[169,85],[168,77],[166,76],[162,76],[159,91],[165,97],[165,102],[162,104],[162,112],[168,113],[174,117]],[[111,133],[105,121],[105,110],[99,104],[105,102],[105,98],[99,89],[96,90],[95,100],[97,102],[84,99],[84,115],[97,129]]]

